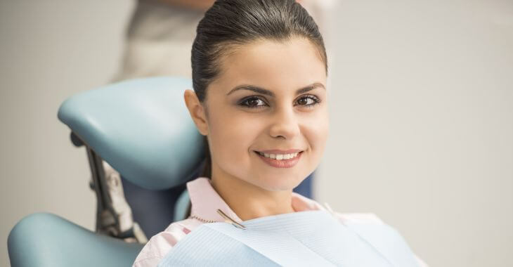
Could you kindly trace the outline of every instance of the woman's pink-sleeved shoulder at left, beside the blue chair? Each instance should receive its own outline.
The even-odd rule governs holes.
[[[157,263],[166,256],[176,243],[185,237],[200,222],[185,219],[171,223],[165,230],[153,235],[136,257],[132,267],[157,266]]]

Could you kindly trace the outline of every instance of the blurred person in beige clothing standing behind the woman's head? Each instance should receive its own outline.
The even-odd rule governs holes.
[[[330,39],[329,11],[335,1],[297,0],[318,22],[326,43]],[[114,82],[152,76],[192,77],[190,47],[198,22],[212,4],[213,0],[137,1]]]

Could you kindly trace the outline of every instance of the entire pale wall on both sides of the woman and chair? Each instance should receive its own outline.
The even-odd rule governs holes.
[[[513,2],[340,1],[316,198],[373,212],[430,266],[513,266]],[[133,2],[0,1],[0,265],[23,216],[89,229],[60,103],[105,84]]]

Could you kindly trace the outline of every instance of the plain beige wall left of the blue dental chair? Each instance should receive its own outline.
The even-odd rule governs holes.
[[[23,216],[94,228],[85,150],[57,119],[68,96],[108,82],[131,1],[0,1],[0,266]]]

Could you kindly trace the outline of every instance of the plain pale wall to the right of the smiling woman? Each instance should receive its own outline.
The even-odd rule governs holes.
[[[342,3],[318,200],[431,266],[513,266],[513,1]]]

